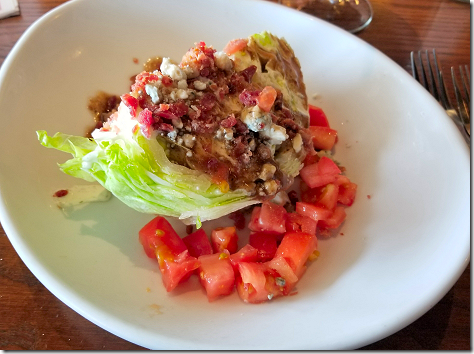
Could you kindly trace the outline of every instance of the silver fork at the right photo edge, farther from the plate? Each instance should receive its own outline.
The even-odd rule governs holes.
[[[471,135],[471,74],[469,73],[469,68],[467,65],[462,67],[459,66],[459,73],[461,76],[462,88],[458,85],[458,81],[456,79],[456,73],[454,71],[454,67],[451,67],[451,77],[453,78],[453,87],[454,87],[454,95],[456,97],[456,104],[457,110],[459,112],[459,116],[466,128],[467,133],[469,136]]]

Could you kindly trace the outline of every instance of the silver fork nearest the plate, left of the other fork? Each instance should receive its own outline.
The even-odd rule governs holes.
[[[447,94],[441,65],[436,57],[436,50],[433,49],[432,53],[433,59],[430,58],[428,50],[424,51],[425,60],[423,60],[422,51],[418,51],[416,56],[415,52],[410,53],[413,77],[441,104],[448,116],[461,128],[461,133],[466,141],[470,142],[470,125],[468,130],[464,121],[460,118],[460,113],[458,113],[451,104]]]

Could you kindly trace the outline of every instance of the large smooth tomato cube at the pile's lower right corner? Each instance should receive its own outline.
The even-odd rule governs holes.
[[[318,240],[315,235],[304,232],[290,232],[283,236],[275,257],[283,257],[296,276],[301,278],[308,257],[317,250]]]

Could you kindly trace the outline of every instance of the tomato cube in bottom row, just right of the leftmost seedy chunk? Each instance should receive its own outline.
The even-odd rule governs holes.
[[[227,252],[199,257],[199,278],[209,301],[234,290],[235,274]]]

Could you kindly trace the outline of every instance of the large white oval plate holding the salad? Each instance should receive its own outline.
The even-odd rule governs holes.
[[[343,236],[298,295],[208,303],[197,281],[167,294],[138,230],[151,219],[117,200],[65,216],[51,194],[78,183],[35,131],[82,135],[88,97],[121,94],[140,63],[180,60],[195,42],[221,49],[268,30],[299,57],[310,102],[339,131],[336,159],[359,185]],[[402,68],[356,37],[265,1],[73,1],[43,16],[0,71],[0,217],[35,276],[75,311],[155,349],[349,349],[416,320],[470,257],[469,149]],[[371,196],[368,199],[368,195]],[[206,227],[210,227],[207,225]]]

